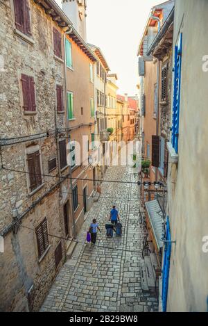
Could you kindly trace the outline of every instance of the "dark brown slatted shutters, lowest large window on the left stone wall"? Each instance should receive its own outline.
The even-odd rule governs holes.
[[[47,228],[47,220],[44,218],[40,225],[35,229],[37,237],[37,250],[39,258],[46,252],[49,247],[49,235]]]

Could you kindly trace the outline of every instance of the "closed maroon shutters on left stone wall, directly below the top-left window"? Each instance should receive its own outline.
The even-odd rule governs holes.
[[[21,74],[21,90],[24,113],[36,113],[35,82],[33,76]]]

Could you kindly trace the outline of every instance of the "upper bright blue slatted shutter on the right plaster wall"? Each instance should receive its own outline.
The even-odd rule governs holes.
[[[172,145],[175,153],[178,153],[178,136],[180,120],[180,84],[182,66],[182,34],[175,46],[175,67],[174,67],[174,91],[173,91],[173,124],[172,124]]]

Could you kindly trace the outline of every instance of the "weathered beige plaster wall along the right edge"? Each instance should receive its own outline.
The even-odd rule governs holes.
[[[207,0],[175,1],[173,46],[182,32],[183,53],[179,163],[170,167],[168,179],[171,237],[177,241],[172,248],[168,311],[207,311],[208,256],[202,252],[202,238],[208,234],[208,73],[202,71],[202,57],[208,54],[207,12]]]

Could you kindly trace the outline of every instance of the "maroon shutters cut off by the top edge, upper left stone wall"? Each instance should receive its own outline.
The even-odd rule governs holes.
[[[13,3],[17,30],[31,35],[31,11],[28,0],[13,0]]]

